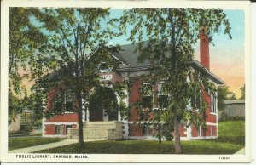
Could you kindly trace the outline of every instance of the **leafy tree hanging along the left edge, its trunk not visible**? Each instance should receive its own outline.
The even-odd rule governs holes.
[[[22,100],[25,92],[21,81],[27,75],[21,74],[20,70],[26,72],[30,69],[27,65],[46,40],[30,21],[32,15],[37,13],[38,9],[9,8],[9,122],[24,103],[18,100]]]

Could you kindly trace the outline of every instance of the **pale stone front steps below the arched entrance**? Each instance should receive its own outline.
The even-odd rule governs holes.
[[[84,122],[84,139],[122,139],[123,122]],[[69,139],[79,139],[79,130],[68,128],[67,135]]]

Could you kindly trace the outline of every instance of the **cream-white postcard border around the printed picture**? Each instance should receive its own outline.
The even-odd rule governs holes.
[[[138,8],[166,8],[166,7],[184,7],[184,8],[220,8],[220,9],[242,9],[245,12],[246,33],[245,33],[245,77],[246,77],[246,154],[245,155],[143,155],[143,154],[85,154],[88,156],[86,159],[44,159],[44,158],[16,158],[19,153],[8,153],[8,22],[9,12],[8,7],[113,7],[125,9],[127,7]],[[1,162],[250,162],[251,161],[251,41],[250,41],[250,2],[239,1],[189,1],[189,2],[164,2],[164,1],[14,1],[5,0],[1,5]],[[22,154],[22,155],[42,155],[42,154]],[[43,154],[45,155],[45,154]],[[54,154],[49,154],[54,156]],[[58,154],[60,155],[60,154]],[[72,155],[73,154],[64,154]],[[75,154],[80,155],[80,154]],[[229,159],[221,159],[221,157],[230,157]]]

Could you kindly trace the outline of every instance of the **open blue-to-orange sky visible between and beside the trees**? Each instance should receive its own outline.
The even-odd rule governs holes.
[[[210,70],[224,80],[224,84],[230,87],[230,91],[241,96],[240,88],[245,83],[245,15],[242,10],[224,10],[227,18],[230,20],[232,39],[224,35],[221,31],[213,37],[215,46],[210,45]],[[119,18],[122,15],[122,9],[111,9],[110,16]],[[127,38],[130,36],[132,26],[128,26],[128,31],[121,37],[113,38],[109,44],[123,45],[129,44]],[[194,45],[195,60],[200,61],[199,41]],[[26,85],[31,84],[25,80]]]

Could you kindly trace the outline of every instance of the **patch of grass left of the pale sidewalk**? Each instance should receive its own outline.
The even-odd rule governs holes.
[[[63,138],[42,138],[42,137],[17,137],[17,138],[9,138],[8,147],[9,151],[16,150],[20,148],[26,148],[30,146],[36,145],[44,145],[57,141],[61,141]]]

